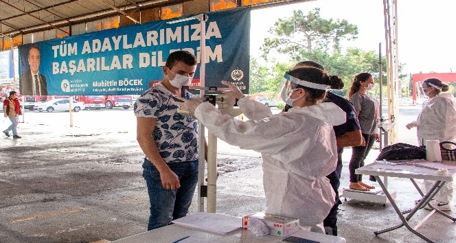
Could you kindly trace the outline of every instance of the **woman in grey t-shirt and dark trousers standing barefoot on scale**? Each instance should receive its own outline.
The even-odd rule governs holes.
[[[367,93],[372,88],[374,88],[372,75],[370,73],[359,73],[354,77],[350,91],[348,91],[348,99],[354,106],[365,141],[365,145],[353,147],[352,159],[350,159],[349,164],[350,189],[358,191],[369,191],[375,188],[363,183],[361,174],[355,174],[356,169],[364,166],[364,160],[374,142],[380,141],[377,128],[380,104],[378,100]]]

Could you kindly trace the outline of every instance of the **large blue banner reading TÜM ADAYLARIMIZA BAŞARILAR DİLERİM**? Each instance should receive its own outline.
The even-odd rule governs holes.
[[[207,13],[205,86],[234,82],[249,92],[250,8]],[[21,95],[134,95],[163,79],[172,51],[198,58],[201,23],[188,16],[19,47]]]

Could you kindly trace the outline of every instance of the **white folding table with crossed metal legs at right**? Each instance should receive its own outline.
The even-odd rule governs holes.
[[[374,176],[380,187],[382,187],[383,192],[387,196],[389,202],[391,205],[394,207],[394,210],[398,214],[400,220],[402,223],[390,227],[388,229],[383,229],[381,231],[375,231],[374,233],[376,235],[379,235],[380,233],[385,233],[388,231],[392,231],[395,229],[399,229],[403,226],[407,227],[409,231],[414,233],[415,235],[418,235],[420,238],[423,240],[426,240],[426,242],[433,242],[433,240],[426,238],[426,236],[422,235],[422,233],[416,231],[420,225],[427,220],[429,217],[425,217],[419,224],[417,224],[416,227],[411,227],[409,224],[409,220],[413,217],[413,215],[419,210],[422,209],[426,204],[428,204],[434,211],[437,213],[442,214],[446,218],[449,218],[450,220],[453,220],[453,222],[456,222],[456,218],[453,218],[452,216],[448,215],[447,213],[444,213],[443,211],[440,211],[438,209],[435,209],[433,205],[429,203],[429,201],[437,194],[437,192],[442,188],[442,186],[448,182],[448,181],[453,181],[453,178],[456,174],[456,170],[448,170],[448,175],[443,176],[437,174],[437,170],[429,169],[429,168],[424,168],[424,167],[417,167],[415,165],[387,165],[385,163],[382,163],[380,161],[376,161],[372,164],[365,165],[361,168],[358,168],[356,170],[356,174],[365,174],[365,175],[370,175]],[[396,205],[394,198],[391,197],[391,195],[388,192],[387,187],[385,187],[385,184],[381,180],[380,176],[388,176],[388,177],[397,177],[397,178],[409,178],[410,181],[413,183],[415,188],[418,190],[420,195],[422,196],[420,202],[413,207],[413,209],[409,209],[407,211],[400,211],[398,206]],[[426,180],[431,180],[435,181],[434,185],[429,189],[429,192],[426,194],[423,194],[422,190],[420,189],[420,186],[415,182],[415,179],[426,179]],[[433,211],[431,211],[433,213]],[[404,217],[404,214],[407,214],[407,216]]]

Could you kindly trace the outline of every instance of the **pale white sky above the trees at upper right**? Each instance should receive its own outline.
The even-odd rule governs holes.
[[[398,58],[404,73],[450,73],[456,71],[455,20],[451,18],[456,1],[398,1]],[[389,0],[392,4],[393,0]],[[382,45],[385,56],[383,0],[317,0],[281,7],[253,10],[251,14],[251,55],[258,49],[277,19],[292,16],[293,10],[304,13],[320,8],[324,19],[346,19],[358,26],[358,38],[345,46],[376,51]]]

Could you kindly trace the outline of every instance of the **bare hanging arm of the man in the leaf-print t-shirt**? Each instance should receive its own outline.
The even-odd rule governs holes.
[[[170,170],[163,158],[161,158],[159,149],[152,139],[152,132],[155,129],[157,119],[149,117],[137,117],[136,139],[139,147],[143,150],[146,157],[160,172],[161,185],[165,189],[178,189],[181,187],[179,177]]]

